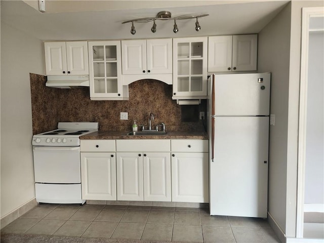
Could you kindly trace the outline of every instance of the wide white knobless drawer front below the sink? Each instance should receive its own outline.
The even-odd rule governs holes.
[[[118,152],[170,152],[169,139],[116,140]]]

